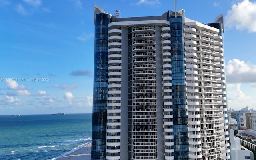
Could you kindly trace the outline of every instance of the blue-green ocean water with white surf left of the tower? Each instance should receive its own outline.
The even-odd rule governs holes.
[[[91,142],[92,115],[0,115],[0,160],[54,160]]]

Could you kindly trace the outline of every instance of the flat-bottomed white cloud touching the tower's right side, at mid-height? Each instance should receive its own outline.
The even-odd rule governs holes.
[[[226,65],[226,77],[228,83],[254,83],[256,82],[256,65],[239,59],[230,60]]]

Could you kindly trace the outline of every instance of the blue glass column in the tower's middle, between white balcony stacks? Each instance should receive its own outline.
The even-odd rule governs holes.
[[[172,48],[172,115],[174,134],[174,159],[189,160],[188,114],[186,104],[186,66],[184,47],[184,10],[170,15]]]

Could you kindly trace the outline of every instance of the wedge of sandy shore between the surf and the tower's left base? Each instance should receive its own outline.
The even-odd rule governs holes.
[[[80,147],[62,154],[52,160],[90,160],[91,159],[91,146],[92,142],[85,143]]]

